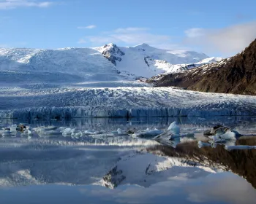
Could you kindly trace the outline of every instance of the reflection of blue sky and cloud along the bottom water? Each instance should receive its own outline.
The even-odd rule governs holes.
[[[13,196],[15,195],[15,196]],[[254,203],[253,189],[232,173],[211,174],[204,178],[167,181],[149,188],[122,186],[32,186],[1,189],[1,203]]]

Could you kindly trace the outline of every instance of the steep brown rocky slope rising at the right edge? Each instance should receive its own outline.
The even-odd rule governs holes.
[[[212,93],[256,95],[256,39],[244,52],[184,73],[148,79],[157,87],[177,86]]]

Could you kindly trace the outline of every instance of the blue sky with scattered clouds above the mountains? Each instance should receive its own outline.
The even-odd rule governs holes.
[[[255,0],[0,0],[0,47],[146,43],[228,57],[256,38]]]

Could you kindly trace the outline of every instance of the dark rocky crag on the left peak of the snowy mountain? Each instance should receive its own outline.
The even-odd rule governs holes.
[[[121,62],[121,56],[125,55],[116,44],[112,44],[112,46],[105,44],[104,48],[106,50],[102,52],[102,55],[113,63],[114,66],[116,66],[116,61]]]

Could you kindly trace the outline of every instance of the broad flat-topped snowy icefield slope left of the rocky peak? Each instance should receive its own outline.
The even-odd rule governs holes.
[[[58,50],[0,49],[0,71],[43,71],[72,74],[118,74],[115,66],[89,48]]]

